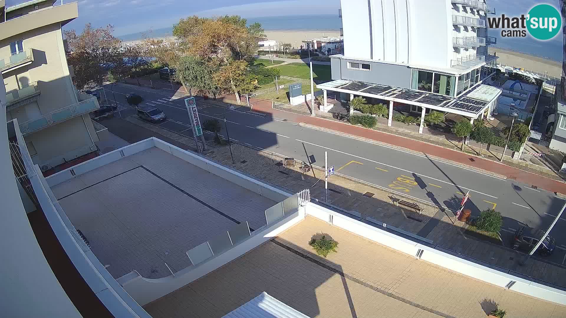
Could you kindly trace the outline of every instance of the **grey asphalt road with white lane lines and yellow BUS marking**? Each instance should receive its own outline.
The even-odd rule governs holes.
[[[114,87],[114,92],[116,101],[122,105],[126,105],[126,93],[140,94],[144,97],[144,104],[156,105],[167,115],[168,121],[158,126],[192,137],[184,101],[171,97],[173,92],[158,94],[119,86]],[[106,93],[111,98],[112,92]],[[462,196],[469,191],[466,208],[470,208],[473,215],[488,208],[496,208],[503,214],[501,236],[506,246],[509,246],[514,230],[524,224],[546,229],[564,204],[564,200],[554,193],[531,188],[528,184],[499,179],[387,145],[300,126],[286,119],[285,112],[281,112],[280,118],[272,118],[245,111],[229,111],[201,99],[197,104],[201,122],[211,118],[223,121],[222,114],[228,111],[226,124],[230,138],[242,144],[318,166],[324,166],[324,152],[327,151],[328,165],[335,166],[335,171],[452,210],[458,208]],[[122,117],[135,114],[129,106],[122,106],[121,110]],[[225,130],[220,134],[225,136]],[[209,138],[212,139],[212,136]],[[332,189],[332,184],[329,188]],[[565,228],[566,214],[551,232],[558,248],[550,260],[559,264],[566,261]]]

